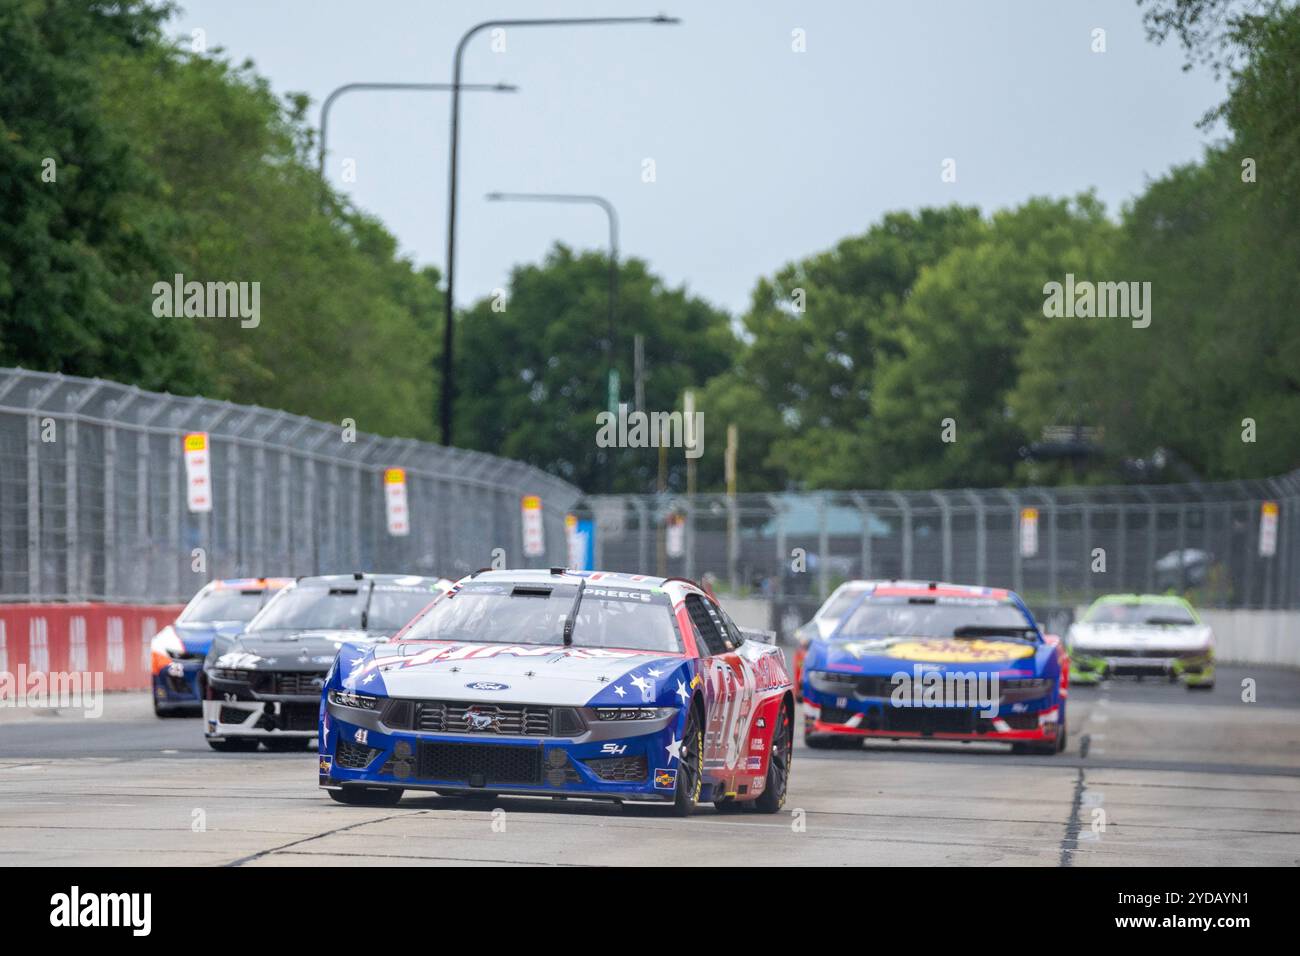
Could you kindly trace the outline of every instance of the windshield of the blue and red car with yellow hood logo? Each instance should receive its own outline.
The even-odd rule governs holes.
[[[993,598],[868,597],[838,637],[1019,637],[1037,640],[1034,623]]]

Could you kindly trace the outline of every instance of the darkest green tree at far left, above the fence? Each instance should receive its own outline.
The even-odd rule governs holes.
[[[0,362],[190,390],[192,328],[155,319],[174,217],[98,108],[94,62],[155,42],[138,3],[0,7]]]

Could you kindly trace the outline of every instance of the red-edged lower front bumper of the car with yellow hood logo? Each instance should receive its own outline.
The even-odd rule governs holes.
[[[892,706],[889,701],[855,702],[855,709],[820,706],[803,700],[805,735],[884,737],[888,740],[993,740],[1046,743],[1061,734],[1062,708],[998,713],[985,717],[972,708]]]

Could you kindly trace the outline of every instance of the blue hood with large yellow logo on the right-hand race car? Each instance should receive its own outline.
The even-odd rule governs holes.
[[[890,676],[913,665],[927,670],[959,667],[963,672],[1035,674],[1046,659],[1050,645],[1017,640],[957,637],[848,637],[816,641],[809,649],[805,671],[831,670],[841,674]]]

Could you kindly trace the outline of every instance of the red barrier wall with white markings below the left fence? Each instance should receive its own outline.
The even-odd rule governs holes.
[[[105,691],[150,685],[150,641],[183,605],[0,605],[0,671],[103,672]]]

